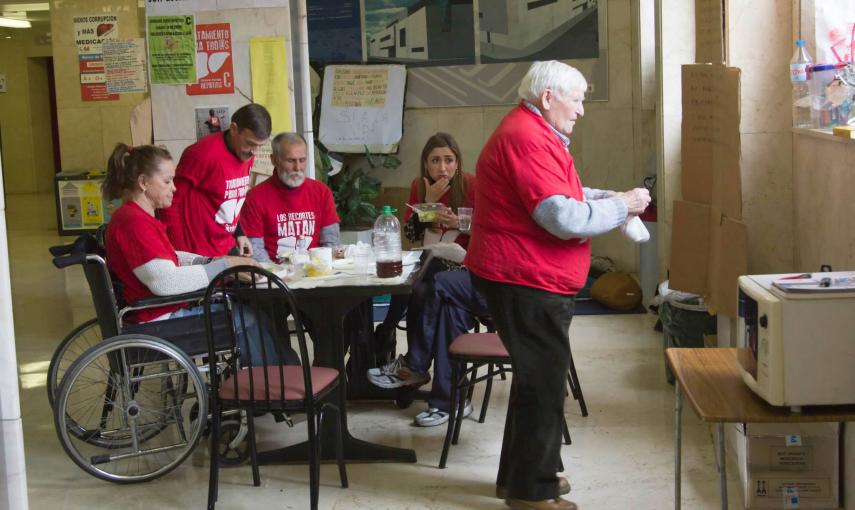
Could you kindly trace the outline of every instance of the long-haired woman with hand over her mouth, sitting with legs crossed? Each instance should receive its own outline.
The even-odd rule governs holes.
[[[377,343],[394,352],[395,326],[407,316],[406,355],[388,364],[368,370],[368,380],[381,388],[421,386],[430,380],[428,369],[433,363],[433,384],[427,409],[415,417],[421,427],[441,425],[448,421],[451,399],[451,365],[448,346],[460,334],[475,325],[475,317],[489,315],[483,298],[472,288],[469,272],[462,261],[469,241],[467,233],[458,230],[458,207],[472,207],[475,178],[463,172],[460,147],[447,133],[428,138],[422,149],[421,176],[410,187],[410,203],[439,202],[446,208],[432,223],[422,223],[418,215],[407,211],[407,238],[422,241],[424,246],[438,242],[432,255],[423,260],[418,283],[409,296],[392,296],[389,312],[377,327]],[[454,244],[450,244],[450,243]],[[442,250],[440,250],[440,247]],[[440,251],[442,253],[440,253]],[[467,403],[464,416],[472,412]]]

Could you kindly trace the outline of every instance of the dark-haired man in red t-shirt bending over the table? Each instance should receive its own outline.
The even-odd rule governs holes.
[[[253,153],[270,137],[270,114],[255,103],[239,108],[223,133],[184,150],[172,206],[159,218],[175,249],[218,257],[252,255],[238,219],[249,191]]]

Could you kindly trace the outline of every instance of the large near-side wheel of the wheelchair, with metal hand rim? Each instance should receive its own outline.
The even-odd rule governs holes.
[[[143,482],[178,466],[207,416],[206,386],[173,344],[122,335],[87,350],[57,392],[54,424],[71,460],[111,482]]]

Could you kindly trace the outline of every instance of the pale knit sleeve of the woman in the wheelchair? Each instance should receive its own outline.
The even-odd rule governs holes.
[[[153,259],[134,268],[134,275],[155,296],[172,296],[204,288],[227,267],[229,263],[225,259],[187,266],[176,266],[167,259]]]

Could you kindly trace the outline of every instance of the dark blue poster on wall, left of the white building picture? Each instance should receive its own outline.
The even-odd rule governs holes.
[[[313,64],[362,62],[359,0],[308,0],[306,11]]]

